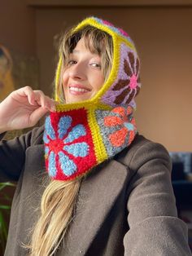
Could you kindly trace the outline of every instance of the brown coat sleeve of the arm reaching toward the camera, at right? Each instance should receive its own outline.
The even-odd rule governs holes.
[[[192,255],[187,226],[177,218],[167,150],[147,142],[137,148],[129,169],[136,171],[127,190],[129,231],[124,236],[124,255]]]

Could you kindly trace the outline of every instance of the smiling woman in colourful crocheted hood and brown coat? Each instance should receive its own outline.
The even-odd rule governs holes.
[[[190,255],[168,152],[137,132],[140,86],[129,35],[89,17],[61,42],[56,102],[28,86],[2,102],[2,136],[50,111],[0,144],[1,176],[18,181],[5,255]]]

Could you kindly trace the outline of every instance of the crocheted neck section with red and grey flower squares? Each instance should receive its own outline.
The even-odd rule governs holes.
[[[136,134],[132,113],[130,106],[50,113],[44,133],[50,177],[75,179],[128,147]]]

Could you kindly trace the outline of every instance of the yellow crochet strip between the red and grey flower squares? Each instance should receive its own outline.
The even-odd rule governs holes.
[[[102,136],[100,134],[100,129],[95,117],[94,110],[89,109],[87,112],[87,115],[88,115],[87,119],[89,122],[89,127],[90,127],[92,138],[93,138],[95,155],[97,158],[97,162],[99,164],[108,158],[107,151],[104,146]]]

